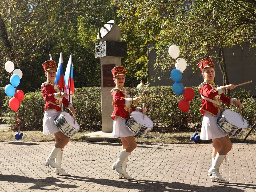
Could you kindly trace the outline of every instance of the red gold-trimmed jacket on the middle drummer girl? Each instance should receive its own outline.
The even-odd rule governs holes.
[[[114,111],[111,118],[121,117],[122,119],[129,118],[131,111],[141,111],[141,107],[131,106],[132,98],[130,94],[125,91],[122,87],[115,87],[111,90],[113,97]]]

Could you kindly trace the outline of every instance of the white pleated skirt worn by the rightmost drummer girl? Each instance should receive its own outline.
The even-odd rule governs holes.
[[[205,112],[202,121],[202,128],[200,139],[201,140],[209,140],[216,139],[227,136],[222,130],[217,126],[217,119],[221,116],[221,113],[217,117]]]

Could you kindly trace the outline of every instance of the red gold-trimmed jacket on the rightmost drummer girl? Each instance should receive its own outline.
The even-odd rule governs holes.
[[[216,103],[207,101],[206,99],[201,97],[202,106],[199,110],[203,115],[205,114],[205,112],[207,112],[217,117],[222,103],[226,103],[228,105],[235,105],[235,98],[230,98],[223,94],[226,92],[224,86],[218,87],[213,81],[205,80],[199,85],[198,88],[200,94],[203,97],[206,97],[206,99],[212,99],[215,102],[217,101],[217,103],[219,103],[218,105]]]

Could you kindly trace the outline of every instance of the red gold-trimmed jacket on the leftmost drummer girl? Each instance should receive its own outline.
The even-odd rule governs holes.
[[[73,105],[67,100],[67,98],[60,98],[58,93],[62,92],[61,87],[55,85],[53,82],[44,82],[41,85],[41,91],[43,94],[43,99],[46,101],[44,106],[44,111],[46,110],[56,110],[62,111],[62,103],[69,109],[74,108]]]

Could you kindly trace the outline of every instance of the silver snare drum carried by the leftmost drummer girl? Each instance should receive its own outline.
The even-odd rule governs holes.
[[[72,137],[80,130],[80,126],[77,121],[74,120],[74,118],[66,111],[62,111],[58,117],[54,119],[54,123],[67,137]]]

